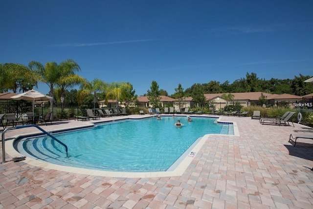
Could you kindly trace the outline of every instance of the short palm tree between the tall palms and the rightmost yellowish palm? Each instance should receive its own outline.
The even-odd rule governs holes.
[[[93,94],[93,109],[95,109],[95,103],[97,101],[97,93],[105,92],[107,84],[101,79],[95,78],[91,82],[84,82],[81,85],[81,89],[77,93],[78,101],[82,103],[83,98],[87,95]]]

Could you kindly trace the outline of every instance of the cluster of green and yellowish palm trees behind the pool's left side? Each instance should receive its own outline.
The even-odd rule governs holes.
[[[53,97],[50,101],[52,119],[54,101],[63,104],[66,102],[66,95],[71,103],[76,104],[83,104],[92,98],[94,107],[101,99],[106,101],[115,99],[117,106],[119,101],[134,100],[135,91],[132,84],[128,82],[106,83],[98,78],[88,81],[76,74],[80,70],[79,65],[72,59],[67,59],[59,64],[47,62],[45,65],[31,61],[28,66],[19,63],[0,63],[0,93],[8,90],[12,90],[14,93],[17,93],[18,90],[25,92],[33,89],[34,86],[37,87],[39,82],[45,83],[49,87],[48,95]],[[80,85],[78,91],[72,89],[76,85]],[[73,96],[72,93],[76,95]]]

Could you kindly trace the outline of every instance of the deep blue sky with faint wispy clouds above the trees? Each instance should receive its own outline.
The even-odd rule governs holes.
[[[91,81],[175,93],[313,75],[312,0],[2,0],[0,63],[75,60]],[[46,84],[39,90],[48,93]]]

